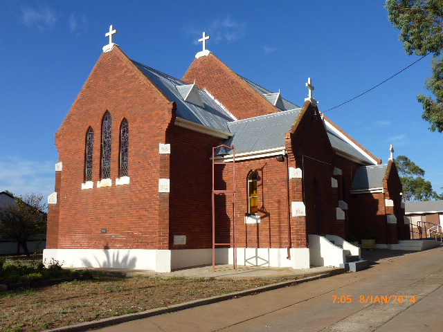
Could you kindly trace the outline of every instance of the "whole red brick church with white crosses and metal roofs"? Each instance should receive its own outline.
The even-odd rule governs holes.
[[[206,49],[181,80],[113,37],[60,129],[44,258],[168,272],[204,264],[339,266],[372,236],[409,238],[401,183],[318,109]],[[374,234],[371,234],[374,233]]]

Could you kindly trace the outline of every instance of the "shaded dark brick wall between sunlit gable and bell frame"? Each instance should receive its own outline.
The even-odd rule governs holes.
[[[190,129],[168,129],[170,155],[170,248],[212,248],[212,148],[221,139]],[[186,235],[186,245],[173,245]]]

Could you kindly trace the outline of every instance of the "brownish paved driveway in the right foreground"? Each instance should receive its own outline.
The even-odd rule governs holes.
[[[442,285],[443,248],[437,247],[387,258],[359,273],[96,331],[442,332]]]

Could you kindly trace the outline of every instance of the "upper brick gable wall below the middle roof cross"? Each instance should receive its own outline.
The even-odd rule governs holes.
[[[194,80],[199,89],[208,90],[239,120],[278,112],[213,53],[192,62],[183,81],[192,84]]]

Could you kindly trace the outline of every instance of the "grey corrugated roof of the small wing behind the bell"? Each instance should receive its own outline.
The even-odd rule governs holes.
[[[301,109],[282,111],[228,123],[233,137],[223,144],[235,147],[236,154],[284,148],[284,134],[291,129]],[[229,151],[232,154],[233,151]]]

